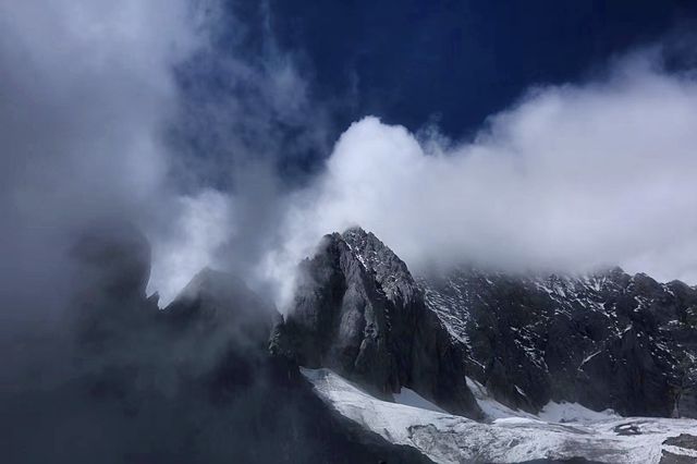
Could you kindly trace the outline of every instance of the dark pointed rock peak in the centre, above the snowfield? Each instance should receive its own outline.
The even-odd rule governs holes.
[[[360,229],[325,236],[302,262],[271,351],[334,369],[382,398],[408,387],[445,410],[480,416],[461,346],[426,307],[406,265]]]

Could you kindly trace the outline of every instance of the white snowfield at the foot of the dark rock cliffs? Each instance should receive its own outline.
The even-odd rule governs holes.
[[[697,437],[697,420],[620,417],[577,404],[550,403],[537,416],[490,399],[468,379],[488,423],[439,412],[403,389],[395,403],[378,400],[328,369],[302,369],[317,394],[343,416],[388,441],[414,447],[437,463],[516,463],[585,457],[607,463],[659,463],[663,452],[697,463],[697,449],[663,444],[670,437]],[[416,407],[419,406],[419,407]],[[697,444],[697,439],[694,441]],[[695,447],[697,448],[697,447]]]

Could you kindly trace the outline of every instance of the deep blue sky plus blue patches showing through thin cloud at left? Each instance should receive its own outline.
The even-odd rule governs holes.
[[[435,122],[461,139],[530,86],[583,81],[613,57],[682,36],[697,17],[696,2],[669,0],[235,0],[228,5],[219,54],[194,60],[183,73],[189,103],[206,102],[187,111],[208,139],[189,138],[196,151],[211,154],[221,151],[221,144],[210,134],[240,134],[249,151],[282,152],[277,156],[286,178],[313,171],[339,134],[366,114],[412,131]],[[308,142],[311,129],[303,121],[265,110],[269,103],[257,98],[254,81],[231,85],[230,70],[217,62],[225,53],[260,62],[268,58],[269,41],[293,58],[311,105],[322,108],[323,145]],[[246,119],[220,122],[199,111],[232,94]],[[264,123],[250,122],[254,118]],[[218,156],[228,156],[227,149]]]

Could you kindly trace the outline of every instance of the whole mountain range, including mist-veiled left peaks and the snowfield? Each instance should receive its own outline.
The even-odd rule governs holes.
[[[102,430],[111,462],[697,462],[680,282],[415,278],[356,228],[299,265],[284,317],[210,269],[159,309],[147,242],[124,234],[76,248],[69,380],[4,398],[9,462],[89,462]]]

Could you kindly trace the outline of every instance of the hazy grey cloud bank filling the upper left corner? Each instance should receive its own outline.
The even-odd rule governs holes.
[[[4,329],[60,318],[81,229],[168,209],[171,69],[196,47],[185,0],[0,2]]]

